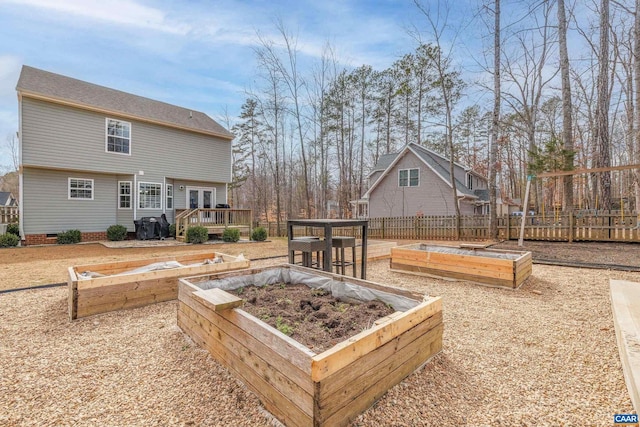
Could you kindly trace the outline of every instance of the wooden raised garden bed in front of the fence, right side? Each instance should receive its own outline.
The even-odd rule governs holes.
[[[418,243],[391,250],[391,271],[516,289],[531,275],[531,252]]]

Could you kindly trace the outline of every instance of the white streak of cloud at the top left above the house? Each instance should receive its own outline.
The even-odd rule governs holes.
[[[168,20],[163,11],[131,0],[6,0],[5,3],[167,33],[186,34],[190,30],[185,24]]]

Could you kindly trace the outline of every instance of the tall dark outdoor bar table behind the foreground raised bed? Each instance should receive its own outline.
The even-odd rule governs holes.
[[[287,221],[289,242],[293,239],[293,227],[317,227],[324,229],[325,249],[323,256],[323,270],[332,271],[332,235],[334,227],[361,227],[362,228],[362,258],[360,260],[360,277],[367,278],[367,219],[290,219]],[[355,262],[355,260],[353,260]]]

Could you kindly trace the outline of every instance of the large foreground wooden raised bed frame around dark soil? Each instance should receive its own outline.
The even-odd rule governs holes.
[[[410,305],[394,305],[393,315],[316,354],[221,290],[305,281],[401,297]],[[178,301],[178,326],[287,426],[347,425],[442,348],[440,298],[289,264],[180,279]]]

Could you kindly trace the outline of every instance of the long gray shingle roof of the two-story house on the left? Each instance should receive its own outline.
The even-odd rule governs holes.
[[[27,65],[22,67],[16,90],[24,96],[40,96],[79,107],[117,113],[125,117],[233,139],[231,132],[199,111],[132,95]]]

